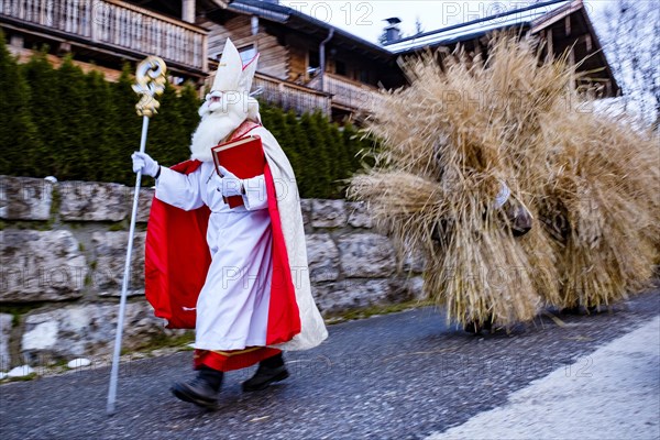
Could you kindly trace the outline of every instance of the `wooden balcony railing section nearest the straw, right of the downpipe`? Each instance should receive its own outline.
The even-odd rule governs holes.
[[[320,78],[314,78],[308,87],[320,90]],[[328,73],[323,75],[322,91],[332,95],[332,105],[365,112],[371,112],[381,100],[375,87]]]

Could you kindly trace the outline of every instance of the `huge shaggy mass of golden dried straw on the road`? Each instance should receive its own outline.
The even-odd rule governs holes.
[[[580,113],[574,69],[540,63],[534,44],[501,35],[485,62],[408,61],[411,86],[384,94],[369,121],[382,141],[375,165],[349,188],[402,254],[422,251],[425,289],[461,323],[608,304],[642,285],[658,256],[658,150]],[[537,220],[524,238],[493,208],[501,182]]]

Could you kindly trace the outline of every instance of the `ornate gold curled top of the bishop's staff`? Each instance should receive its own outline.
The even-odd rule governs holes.
[[[147,56],[138,65],[133,91],[142,95],[135,105],[139,116],[151,118],[158,112],[161,102],[155,99],[155,96],[165,90],[166,70],[165,62],[157,56]]]

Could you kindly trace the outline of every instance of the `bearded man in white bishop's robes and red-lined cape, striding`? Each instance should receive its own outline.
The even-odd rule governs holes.
[[[169,328],[196,330],[198,374],[172,392],[202,407],[217,404],[223,373],[258,363],[243,389],[263,389],[288,377],[282,350],[310,349],[328,336],[310,292],[294,172],[249,96],[257,58],[243,66],[227,41],[190,161],[167,168],[132,155],[134,172],[156,178],[146,297]],[[261,138],[264,173],[241,179],[217,168],[211,147],[246,135]],[[230,208],[235,196],[242,205]]]

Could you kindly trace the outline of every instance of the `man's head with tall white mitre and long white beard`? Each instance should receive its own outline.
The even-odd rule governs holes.
[[[243,66],[241,54],[231,40],[227,40],[213,86],[199,109],[201,122],[193,135],[191,158],[212,161],[210,148],[226,140],[245,119],[261,122],[258,103],[250,97],[257,61],[258,54]]]

